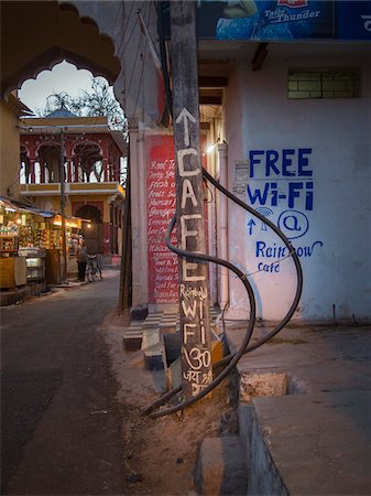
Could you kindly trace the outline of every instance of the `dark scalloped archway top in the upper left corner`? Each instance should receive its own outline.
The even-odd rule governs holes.
[[[101,34],[91,19],[80,19],[73,4],[1,1],[0,9],[2,97],[64,60],[110,84],[118,78],[121,66],[113,41]],[[20,12],[26,20],[22,29]]]

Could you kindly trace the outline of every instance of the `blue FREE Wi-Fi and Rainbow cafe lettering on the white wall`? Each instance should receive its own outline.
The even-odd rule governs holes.
[[[247,201],[255,211],[275,224],[287,239],[301,239],[295,245],[298,257],[309,259],[324,242],[307,239],[309,216],[314,209],[314,172],[312,148],[251,150]],[[250,259],[255,259],[252,273],[276,274],[290,258],[288,248],[274,235],[263,219],[249,216],[247,235],[251,240]],[[306,239],[304,241],[304,239]]]

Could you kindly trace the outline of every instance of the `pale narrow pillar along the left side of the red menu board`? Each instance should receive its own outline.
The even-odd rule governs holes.
[[[146,164],[144,162],[143,131],[134,119],[130,122],[130,186],[132,225],[132,306],[149,303],[148,278],[148,215]]]

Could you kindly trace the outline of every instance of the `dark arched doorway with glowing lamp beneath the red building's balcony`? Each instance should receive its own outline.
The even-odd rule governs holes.
[[[89,219],[89,223],[84,222],[81,226],[81,235],[85,239],[86,247],[89,254],[103,252],[103,229],[102,218],[99,208],[94,205],[84,205],[77,208],[75,215],[77,217]]]

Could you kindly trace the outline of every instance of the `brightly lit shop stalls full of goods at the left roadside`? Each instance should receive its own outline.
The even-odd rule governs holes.
[[[66,273],[77,273],[81,219],[66,219]],[[62,217],[6,197],[0,198],[1,304],[41,294],[62,282]]]

